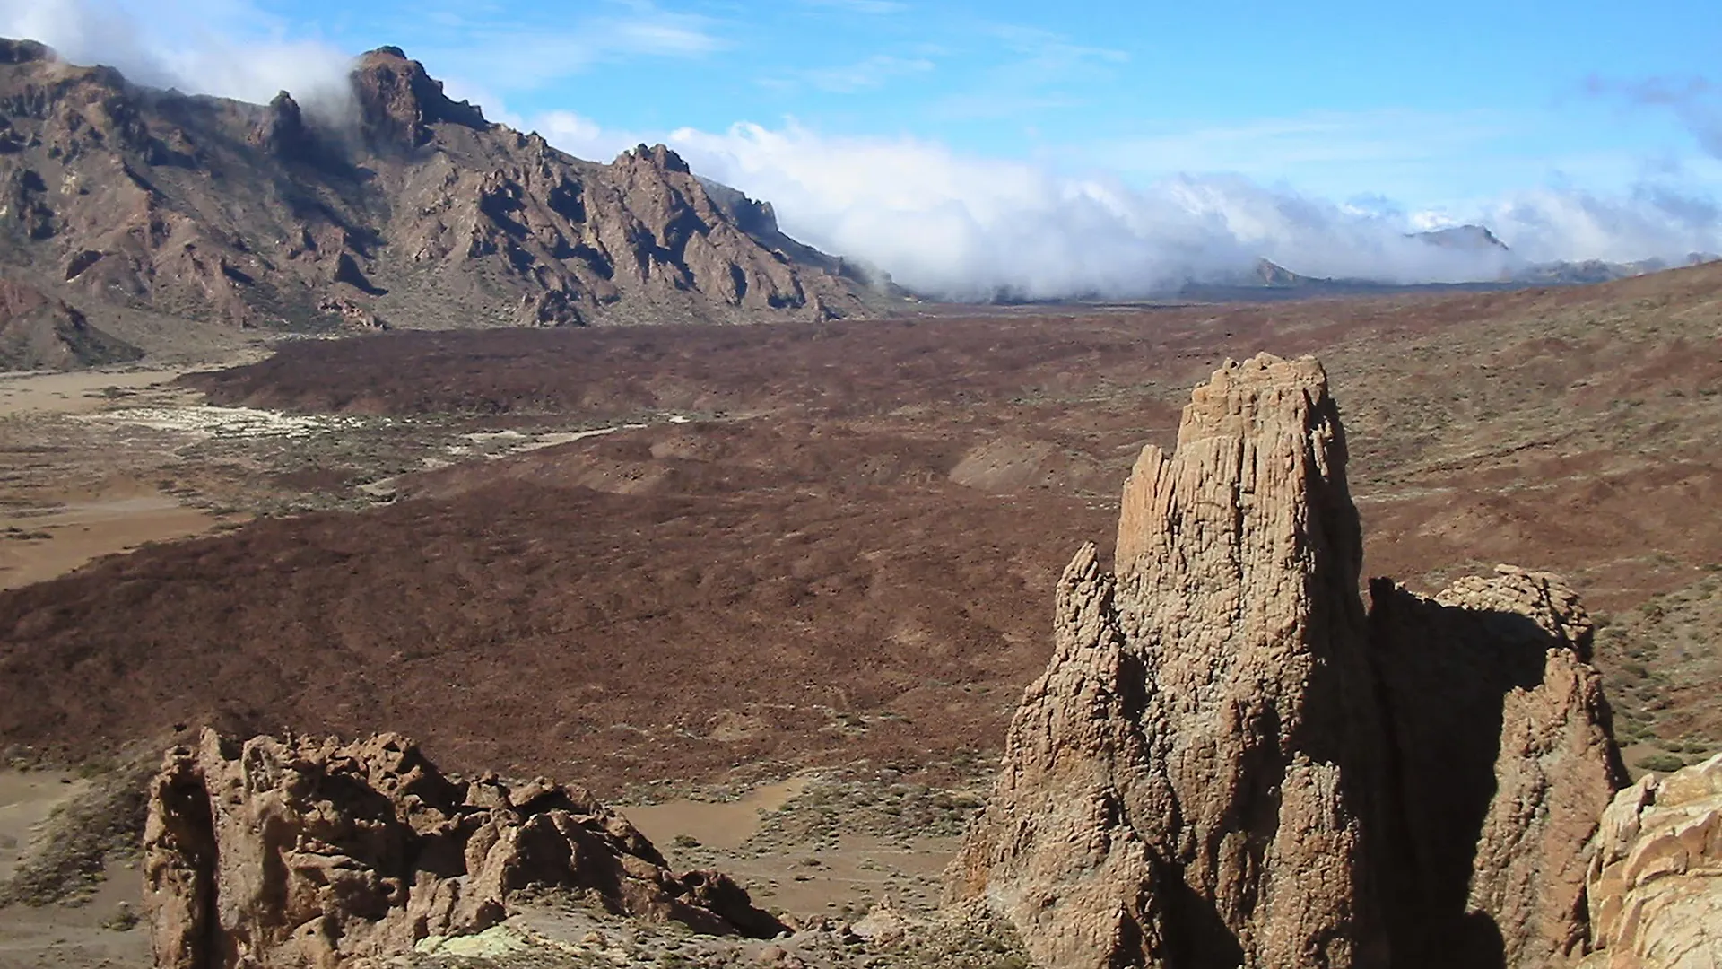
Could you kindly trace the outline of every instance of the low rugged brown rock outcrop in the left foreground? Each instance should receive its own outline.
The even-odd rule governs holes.
[[[145,907],[160,967],[343,966],[482,931],[523,888],[703,933],[784,931],[727,876],[668,872],[585,791],[448,778],[394,735],[238,743],[207,731],[170,750],[152,785]]]

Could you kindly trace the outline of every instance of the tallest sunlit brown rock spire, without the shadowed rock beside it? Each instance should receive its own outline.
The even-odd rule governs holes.
[[[1379,736],[1345,438],[1314,360],[1228,364],[1124,486],[1114,579],[1059,583],[951,900],[1052,967],[1379,964]]]

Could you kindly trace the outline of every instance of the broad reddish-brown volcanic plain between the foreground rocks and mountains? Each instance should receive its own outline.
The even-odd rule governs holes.
[[[1627,764],[1719,748],[1722,266],[386,333],[86,376],[76,405],[0,419],[0,747],[98,776],[201,724],[403,731],[456,771],[660,803],[647,835],[766,903],[930,903],[1045,666],[1061,567],[1109,555],[1137,452],[1259,350],[1329,372],[1369,574],[1558,572],[1601,621]],[[65,516],[103,502],[188,517],[134,550],[77,538]]]

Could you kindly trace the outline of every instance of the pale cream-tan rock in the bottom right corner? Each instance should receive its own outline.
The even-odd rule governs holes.
[[[1586,888],[1583,969],[1722,964],[1722,755],[1615,795]]]

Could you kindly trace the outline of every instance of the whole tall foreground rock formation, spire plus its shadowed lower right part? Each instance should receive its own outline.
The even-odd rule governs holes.
[[[1546,966],[1584,943],[1620,786],[1589,621],[1503,569],[1357,593],[1345,434],[1312,359],[1230,364],[1143,450],[1116,576],[1059,583],[947,900],[1052,969]]]

